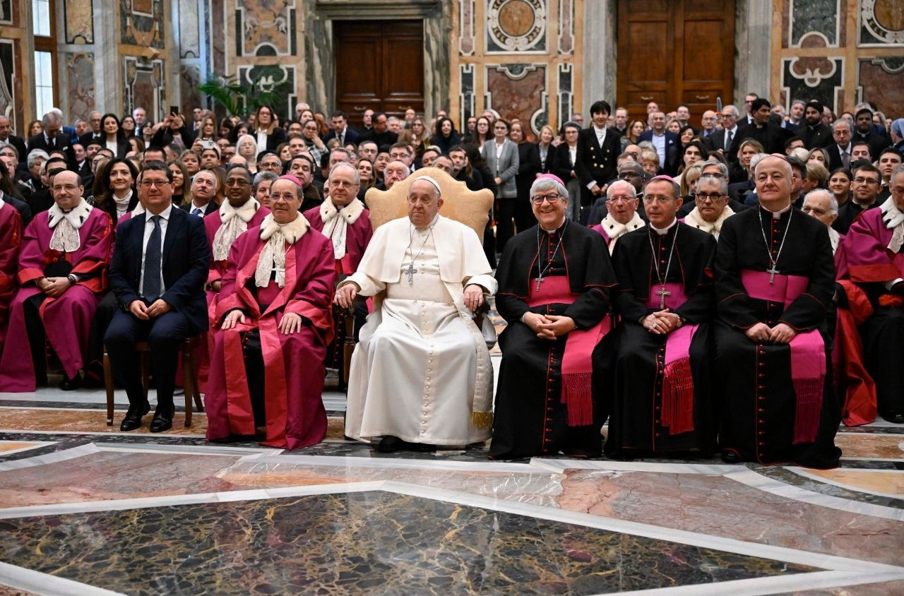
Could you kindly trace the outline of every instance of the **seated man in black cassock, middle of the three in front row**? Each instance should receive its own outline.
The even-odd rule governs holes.
[[[680,189],[668,176],[645,188],[649,226],[612,254],[617,330],[593,355],[594,390],[609,401],[610,457],[715,448],[710,399],[711,260],[716,241],[679,222]]]

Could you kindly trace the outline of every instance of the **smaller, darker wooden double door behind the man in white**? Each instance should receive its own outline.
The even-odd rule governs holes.
[[[334,21],[336,108],[354,125],[365,109],[424,111],[423,21]]]

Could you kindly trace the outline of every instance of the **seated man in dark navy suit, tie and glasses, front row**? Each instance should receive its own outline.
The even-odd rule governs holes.
[[[150,345],[157,387],[151,432],[173,426],[173,388],[179,345],[207,329],[204,282],[211,250],[204,222],[173,205],[173,174],[159,161],[138,176],[146,212],[122,222],[110,263],[109,287],[121,310],[104,341],[110,364],[126,387],[128,412],[119,430],[135,430],[150,410],[142,387],[135,343]]]

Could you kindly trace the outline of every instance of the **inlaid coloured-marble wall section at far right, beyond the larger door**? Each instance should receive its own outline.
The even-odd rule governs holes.
[[[904,116],[904,3],[774,0],[772,99],[819,99],[836,114],[870,101]]]

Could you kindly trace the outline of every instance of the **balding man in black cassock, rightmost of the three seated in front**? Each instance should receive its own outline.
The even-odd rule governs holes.
[[[833,468],[832,246],[822,222],[791,206],[783,157],[762,159],[755,176],[760,207],[726,220],[716,251],[722,459]]]

